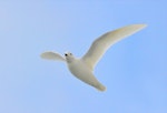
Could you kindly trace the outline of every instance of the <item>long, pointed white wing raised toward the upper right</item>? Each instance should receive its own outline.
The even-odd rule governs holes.
[[[146,24],[131,24],[110,32],[105,33],[100,38],[96,39],[88,52],[82,56],[82,60],[88,66],[94,70],[97,62],[104,55],[104,53],[119,40],[141,30]]]

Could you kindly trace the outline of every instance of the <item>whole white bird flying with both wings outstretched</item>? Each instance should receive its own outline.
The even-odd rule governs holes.
[[[43,52],[41,58],[48,60],[59,60],[66,62],[70,72],[82,82],[105,91],[106,88],[95,78],[94,69],[105,52],[119,40],[134,34],[144,29],[146,24],[131,24],[114,31],[109,31],[96,39],[88,52],[80,59],[77,59],[72,53],[65,53],[65,58],[56,52]]]

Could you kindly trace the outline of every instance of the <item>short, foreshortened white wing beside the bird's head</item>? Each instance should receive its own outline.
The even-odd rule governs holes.
[[[47,59],[47,60],[58,60],[58,61],[66,61],[65,58],[62,58],[59,53],[56,52],[43,52],[40,55],[42,59]]]

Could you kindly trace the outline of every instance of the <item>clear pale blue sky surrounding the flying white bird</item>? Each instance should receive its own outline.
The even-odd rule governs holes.
[[[167,113],[166,0],[1,0],[0,113]],[[81,56],[102,33],[140,32],[111,47],[95,69],[106,92],[73,78],[47,50]]]

